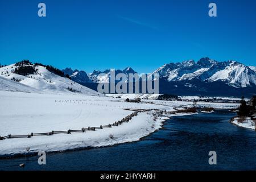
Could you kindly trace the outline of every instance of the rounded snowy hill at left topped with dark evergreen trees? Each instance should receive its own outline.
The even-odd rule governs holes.
[[[21,92],[40,92],[47,93],[81,93],[86,95],[98,95],[92,89],[86,88],[69,78],[55,75],[49,72],[46,67],[29,64],[23,65],[23,68],[31,67],[35,72],[28,75],[17,74],[19,65],[11,64],[6,67],[0,68],[1,87],[0,90],[19,90]],[[16,70],[16,72],[15,72]],[[4,86],[5,85],[5,86]]]

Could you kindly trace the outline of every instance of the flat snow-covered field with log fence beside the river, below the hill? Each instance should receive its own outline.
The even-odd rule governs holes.
[[[150,100],[130,103],[125,102],[123,98],[67,93],[0,91],[0,98],[0,136],[28,135],[47,133],[52,130],[76,130],[88,126],[108,125],[133,113],[133,110],[154,109],[138,113],[130,122],[118,127],[86,131],[86,133],[0,140],[0,156],[26,154],[39,150],[49,152],[82,147],[101,147],[136,141],[160,129],[164,119],[173,116],[162,114],[155,118],[155,113],[159,113],[160,110],[175,111],[175,108],[182,109],[183,106],[192,105],[192,102]],[[198,104],[214,108],[236,108],[238,106],[237,104],[206,102]]]

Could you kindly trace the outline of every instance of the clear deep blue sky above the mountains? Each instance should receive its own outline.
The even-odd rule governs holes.
[[[38,3],[46,3],[46,17]],[[208,16],[210,2],[217,17]],[[254,0],[1,0],[0,63],[23,59],[88,73],[208,56],[256,65]]]

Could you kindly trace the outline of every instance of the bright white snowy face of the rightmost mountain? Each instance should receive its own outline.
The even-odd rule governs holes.
[[[209,81],[217,80],[227,81],[232,86],[243,88],[256,84],[256,73],[241,63],[230,61],[228,67],[209,78]]]

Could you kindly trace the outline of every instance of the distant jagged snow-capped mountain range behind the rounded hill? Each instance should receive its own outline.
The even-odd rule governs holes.
[[[73,81],[77,82],[107,82],[110,76],[110,69],[105,71],[93,71],[88,75],[84,71],[66,68],[63,70]],[[105,76],[99,76],[105,73]],[[115,70],[115,73],[137,73],[132,68]],[[209,57],[201,58],[199,61],[188,60],[181,63],[168,63],[156,69],[153,73],[159,73],[159,77],[168,82],[191,81],[194,79],[203,82],[222,81],[235,88],[246,88],[256,85],[256,67],[247,67],[237,61],[216,61]]]

